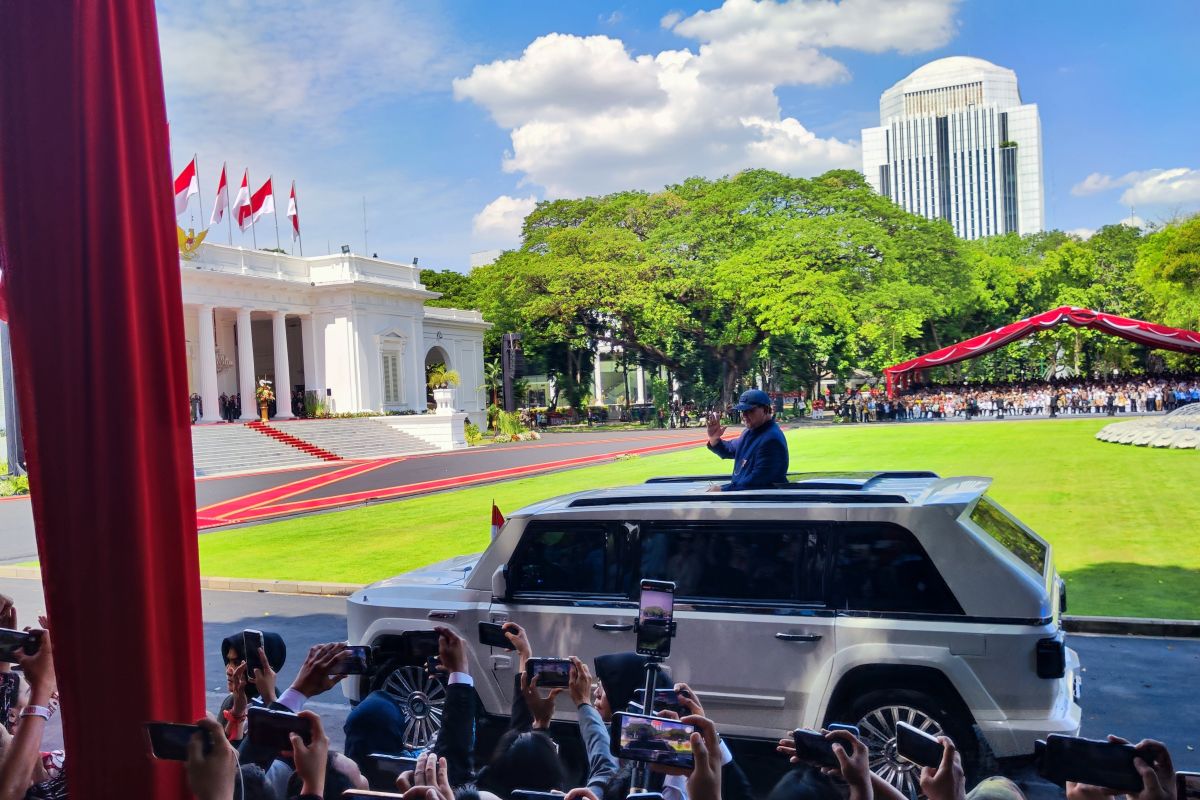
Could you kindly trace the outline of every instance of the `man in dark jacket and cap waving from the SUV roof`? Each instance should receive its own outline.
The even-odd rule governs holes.
[[[733,459],[733,476],[724,486],[714,486],[713,492],[738,489],[769,489],[787,481],[787,440],[775,425],[770,410],[770,397],[761,389],[742,393],[734,411],[742,413],[746,429],[733,441],[721,435],[725,426],[716,414],[708,416],[708,449],[721,458]]]

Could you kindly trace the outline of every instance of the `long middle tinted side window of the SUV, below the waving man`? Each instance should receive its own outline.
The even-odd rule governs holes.
[[[814,525],[643,522],[641,577],[673,581],[680,599],[785,602],[821,597]],[[814,581],[816,577],[816,581]]]

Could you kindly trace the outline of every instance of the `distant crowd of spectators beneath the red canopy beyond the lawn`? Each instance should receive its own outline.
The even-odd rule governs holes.
[[[1128,375],[994,384],[914,385],[888,398],[860,390],[814,403],[846,422],[1154,414],[1200,402],[1200,375]]]

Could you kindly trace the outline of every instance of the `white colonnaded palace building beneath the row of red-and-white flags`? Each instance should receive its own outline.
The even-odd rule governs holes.
[[[426,368],[461,375],[450,409],[484,409],[484,331],[478,311],[433,308],[415,265],[353,253],[296,258],[200,243],[180,258],[190,391],[200,422],[221,421],[220,397],[272,381],[276,419],[293,416],[295,390],[331,413],[425,411]]]

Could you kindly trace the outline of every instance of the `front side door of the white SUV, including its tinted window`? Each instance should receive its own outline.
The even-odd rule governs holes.
[[[612,521],[532,521],[509,559],[505,596],[493,599],[493,621],[526,628],[534,656],[595,656],[634,649],[637,604],[626,589],[630,531]],[[516,654],[493,649],[492,675],[511,703]],[[556,715],[575,718],[562,704]]]

